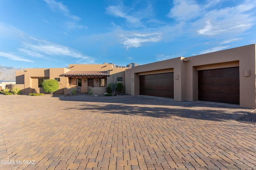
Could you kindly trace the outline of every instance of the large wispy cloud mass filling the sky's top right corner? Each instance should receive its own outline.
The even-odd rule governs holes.
[[[255,0],[240,1],[228,7],[221,2],[213,0],[197,4],[194,0],[174,0],[167,16],[186,21],[184,29],[204,36],[239,35],[254,25]]]

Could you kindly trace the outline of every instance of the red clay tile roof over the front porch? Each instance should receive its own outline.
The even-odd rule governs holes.
[[[79,70],[79,71],[69,71],[64,74],[62,74],[65,77],[101,77],[101,76],[109,76],[108,71],[85,71],[85,70]]]

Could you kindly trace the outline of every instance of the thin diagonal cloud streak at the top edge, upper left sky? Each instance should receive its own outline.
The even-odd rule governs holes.
[[[56,2],[55,0],[44,0],[54,12],[63,14],[71,21],[64,22],[67,29],[75,28],[88,28],[84,25],[79,25],[77,22],[81,20],[80,17],[70,14],[68,7],[62,4],[62,2]]]

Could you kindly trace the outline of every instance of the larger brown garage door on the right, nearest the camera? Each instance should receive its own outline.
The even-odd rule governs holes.
[[[198,100],[239,104],[239,67],[198,71]]]

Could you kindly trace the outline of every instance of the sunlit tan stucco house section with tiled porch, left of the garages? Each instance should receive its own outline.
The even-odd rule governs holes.
[[[16,86],[22,94],[37,92],[44,93],[42,82],[55,79],[59,82],[59,90],[54,94],[72,94],[74,86],[80,86],[82,93],[88,93],[92,88],[93,94],[107,92],[108,79],[114,74],[124,84],[125,69],[116,68],[113,64],[69,64],[68,68],[25,68],[16,71]],[[123,90],[123,92],[125,92]]]

